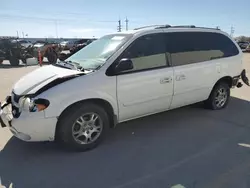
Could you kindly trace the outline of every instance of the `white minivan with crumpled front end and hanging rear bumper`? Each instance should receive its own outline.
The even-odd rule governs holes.
[[[249,85],[242,52],[226,33],[147,26],[103,36],[22,77],[0,122],[21,140],[85,151],[124,121],[201,101],[223,109],[241,80]]]

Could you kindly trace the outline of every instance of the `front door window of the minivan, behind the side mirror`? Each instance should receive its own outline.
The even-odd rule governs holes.
[[[146,70],[166,66],[164,34],[149,34],[136,39],[119,59],[128,58],[134,69]]]

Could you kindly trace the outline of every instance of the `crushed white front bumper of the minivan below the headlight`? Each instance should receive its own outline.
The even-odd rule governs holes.
[[[8,127],[15,137],[23,141],[53,141],[57,118],[46,118],[41,112],[17,112],[11,97],[1,104],[0,124]]]

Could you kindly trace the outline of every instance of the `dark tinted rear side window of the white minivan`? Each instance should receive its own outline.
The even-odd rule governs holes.
[[[173,66],[231,57],[238,48],[225,35],[210,32],[167,33],[167,47]]]

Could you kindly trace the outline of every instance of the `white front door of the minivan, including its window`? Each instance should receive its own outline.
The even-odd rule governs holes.
[[[173,96],[173,69],[166,59],[163,33],[136,39],[121,55],[133,69],[117,76],[119,121],[165,111]]]

